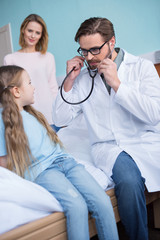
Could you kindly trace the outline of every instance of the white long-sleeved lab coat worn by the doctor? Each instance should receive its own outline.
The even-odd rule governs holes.
[[[53,105],[53,120],[56,125],[64,126],[83,112],[94,164],[110,177],[117,156],[126,151],[146,179],[148,191],[159,191],[160,79],[150,61],[127,52],[118,77],[120,87],[116,93],[111,89],[109,95],[97,74],[92,95],[80,105],[65,103],[59,94]],[[80,101],[90,87],[91,78],[84,69],[72,90],[63,95],[68,101]]]

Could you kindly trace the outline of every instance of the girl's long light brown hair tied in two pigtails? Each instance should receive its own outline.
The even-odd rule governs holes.
[[[0,67],[0,103],[3,107],[2,118],[5,126],[5,140],[7,149],[7,168],[16,171],[20,176],[24,176],[24,172],[28,169],[31,154],[28,138],[23,127],[23,120],[14,101],[11,89],[22,84],[23,68],[18,66],[2,66]],[[50,139],[62,146],[57,134],[45,120],[42,113],[36,111],[32,106],[25,106],[24,110],[33,115],[47,130]]]

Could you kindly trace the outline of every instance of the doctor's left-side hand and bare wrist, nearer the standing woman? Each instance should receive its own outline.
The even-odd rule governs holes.
[[[81,68],[83,67],[84,58],[81,56],[76,56],[71,60],[67,61],[67,74],[74,68],[72,73],[67,77],[64,83],[64,90],[68,92],[71,90],[75,79],[81,72]]]

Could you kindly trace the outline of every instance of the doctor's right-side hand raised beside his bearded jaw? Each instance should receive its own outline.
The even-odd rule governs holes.
[[[116,63],[109,58],[105,58],[100,62],[98,72],[99,74],[103,73],[106,83],[117,92],[121,82],[118,78]]]

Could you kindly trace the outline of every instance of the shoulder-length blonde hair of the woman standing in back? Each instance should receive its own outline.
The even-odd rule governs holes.
[[[24,30],[27,27],[29,22],[37,22],[42,26],[42,36],[36,45],[36,51],[39,51],[42,54],[45,54],[47,52],[47,48],[48,48],[47,26],[46,26],[46,23],[44,22],[44,20],[37,14],[30,14],[28,17],[26,17],[24,19],[23,23],[21,24],[19,45],[22,47],[22,49],[26,47],[26,43],[24,40]]]

